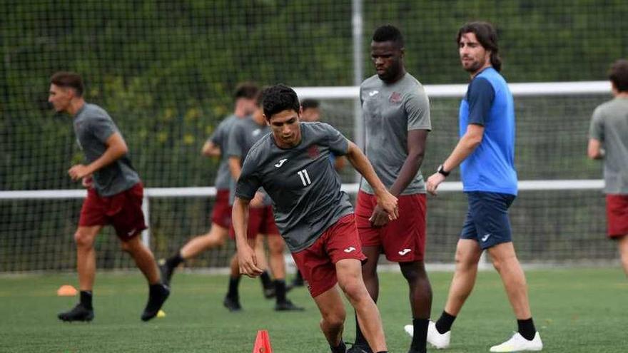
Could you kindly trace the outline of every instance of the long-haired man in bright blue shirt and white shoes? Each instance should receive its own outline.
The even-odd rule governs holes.
[[[517,195],[515,171],[515,105],[504,78],[491,24],[465,24],[457,34],[462,68],[471,76],[460,103],[460,140],[452,153],[427,179],[427,191],[436,195],[438,185],[460,165],[462,185],[469,201],[467,219],[456,247],[456,269],[438,321],[430,322],[427,340],[437,348],[450,344],[451,326],[471,294],[477,262],[484,250],[499,272],[508,300],[517,317],[518,332],[490,352],[540,351],[527,297],[525,274],[512,245],[508,208]]]

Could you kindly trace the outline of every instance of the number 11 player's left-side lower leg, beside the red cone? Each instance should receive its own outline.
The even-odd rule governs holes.
[[[345,352],[343,330],[345,324],[345,305],[340,297],[338,286],[317,295],[314,302],[320,311],[320,330],[323,331],[332,352]]]

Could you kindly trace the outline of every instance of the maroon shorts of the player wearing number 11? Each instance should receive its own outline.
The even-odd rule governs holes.
[[[364,262],[355,216],[345,215],[338,222],[328,227],[307,249],[293,252],[297,268],[308,282],[310,295],[315,298],[335,286],[335,263],[344,259]]]

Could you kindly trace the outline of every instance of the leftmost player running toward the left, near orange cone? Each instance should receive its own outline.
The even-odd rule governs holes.
[[[138,237],[146,229],[141,208],[143,186],[118,127],[103,108],[86,103],[83,89],[78,73],[57,72],[50,79],[48,101],[55,111],[73,117],[76,139],[88,163],[68,170],[72,180],[82,180],[87,188],[74,234],[81,301],[68,312],[59,314],[59,319],[93,319],[92,288],[96,275],[93,242],[103,226],[111,224],[121,240],[122,250],[133,257],[148,281],[148,303],[141,315],[141,319],[147,321],[156,316],[170,290],[161,282],[153,253]]]

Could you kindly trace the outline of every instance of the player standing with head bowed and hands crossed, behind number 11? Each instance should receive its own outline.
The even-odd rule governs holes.
[[[389,221],[375,202],[373,185],[362,180],[355,207],[358,231],[368,262],[364,282],[375,302],[379,296],[381,253],[399,262],[410,291],[414,336],[409,352],[425,352],[432,288],[425,272],[425,183],[420,166],[431,130],[430,103],[416,78],[405,71],[403,37],[395,26],[375,30],[371,58],[376,75],[360,86],[366,129],[366,155],[390,193],[399,198],[399,218]],[[350,352],[370,352],[356,327]]]

